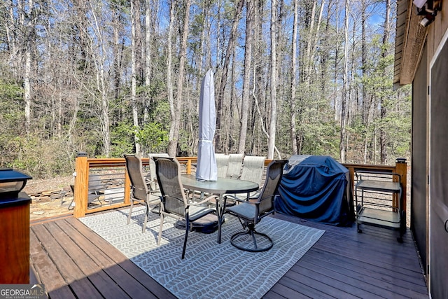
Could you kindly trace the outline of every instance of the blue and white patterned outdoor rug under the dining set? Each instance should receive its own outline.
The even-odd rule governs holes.
[[[129,209],[80,218],[119,249],[148,275],[178,298],[261,298],[290,267],[323,235],[324,230],[265,217],[257,230],[269,235],[274,246],[269,251],[251,253],[236,249],[230,236],[242,230],[238,219],[226,215],[222,242],[218,232],[189,232],[185,259],[181,259],[185,230],[174,227],[166,217],[162,241],[157,246],[160,218],[150,213],[142,233],[144,209]]]

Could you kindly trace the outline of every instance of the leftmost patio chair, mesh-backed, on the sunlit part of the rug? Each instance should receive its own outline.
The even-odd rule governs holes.
[[[148,188],[143,174],[143,164],[141,163],[141,158],[136,155],[125,155],[125,160],[127,174],[129,175],[131,181],[131,207],[129,215],[127,215],[127,224],[131,221],[134,202],[143,204],[146,207],[146,210],[142,232],[145,232],[146,222],[148,221],[149,215],[149,207],[160,204],[160,197],[155,194],[153,190],[149,190]]]

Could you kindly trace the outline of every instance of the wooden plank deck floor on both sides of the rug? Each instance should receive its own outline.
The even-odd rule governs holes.
[[[414,241],[363,225],[339,228],[276,214],[325,234],[264,298],[429,298]],[[30,228],[31,283],[50,298],[175,298],[73,217]]]

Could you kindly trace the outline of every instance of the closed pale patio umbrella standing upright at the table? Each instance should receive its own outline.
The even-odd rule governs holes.
[[[215,148],[213,139],[216,129],[215,85],[213,71],[209,69],[202,79],[201,97],[199,101],[199,148],[197,151],[196,179],[200,181],[216,181]]]

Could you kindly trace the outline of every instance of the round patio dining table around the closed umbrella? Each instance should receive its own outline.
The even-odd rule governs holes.
[[[216,197],[216,216],[218,216],[218,243],[221,244],[221,225],[225,211],[225,197],[228,193],[251,193],[258,190],[260,186],[253,181],[240,179],[218,178],[216,181],[198,181],[193,174],[181,176],[184,188],[204,193],[218,195]]]

